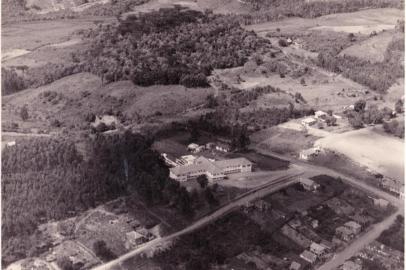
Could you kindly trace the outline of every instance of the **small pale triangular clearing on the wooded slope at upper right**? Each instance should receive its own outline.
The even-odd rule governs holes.
[[[402,37],[399,33],[385,31],[344,49],[339,55],[354,56],[371,62],[382,62],[389,43],[395,38]]]

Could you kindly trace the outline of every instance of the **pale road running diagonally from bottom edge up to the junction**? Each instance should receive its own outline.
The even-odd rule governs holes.
[[[165,236],[163,238],[156,238],[156,239],[142,245],[141,247],[120,256],[119,258],[117,258],[113,261],[110,261],[106,264],[95,267],[94,270],[111,269],[112,267],[120,265],[120,263],[122,263],[142,252],[145,252],[152,248],[158,248],[160,245],[164,244],[165,242],[171,241],[184,234],[191,233],[191,232],[215,221],[216,219],[224,216],[225,214],[227,214],[235,209],[238,209],[242,205],[245,205],[247,202],[253,201],[258,198],[262,198],[271,192],[275,192],[281,188],[291,185],[292,183],[297,181],[299,175],[300,174],[295,174],[295,175],[288,175],[285,177],[281,177],[281,178],[275,179],[271,183],[268,183],[257,189],[248,191],[248,192],[240,195],[239,197],[235,198],[234,200],[232,200],[229,204],[227,204],[227,205],[219,208],[215,212],[199,219],[198,221],[196,221],[192,225],[186,227],[185,229],[178,231],[176,233],[173,233],[171,235]]]

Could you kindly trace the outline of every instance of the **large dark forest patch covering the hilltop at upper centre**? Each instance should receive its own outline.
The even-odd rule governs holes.
[[[270,46],[235,20],[179,6],[128,16],[84,36],[91,46],[81,57],[90,72],[104,82],[138,85],[207,86],[214,68],[241,66]]]

